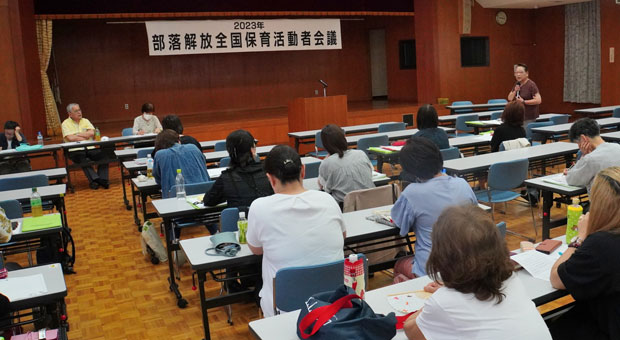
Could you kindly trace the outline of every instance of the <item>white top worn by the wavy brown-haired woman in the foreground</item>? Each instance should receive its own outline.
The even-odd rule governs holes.
[[[480,301],[474,294],[438,289],[424,304],[417,324],[427,340],[551,340],[551,334],[521,281],[504,282],[506,296]]]

